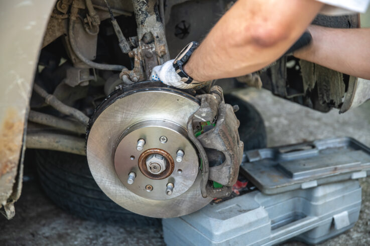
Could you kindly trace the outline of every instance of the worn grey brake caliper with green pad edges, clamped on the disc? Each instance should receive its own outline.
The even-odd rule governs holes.
[[[189,118],[188,134],[202,159],[202,196],[226,197],[237,180],[243,154],[244,144],[237,131],[239,121],[234,108],[224,102],[219,86],[197,98],[201,104]]]

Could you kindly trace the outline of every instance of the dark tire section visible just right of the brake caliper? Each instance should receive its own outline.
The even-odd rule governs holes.
[[[235,115],[240,121],[238,131],[240,140],[244,142],[244,152],[266,148],[266,128],[264,120],[257,109],[250,103],[231,94],[224,95],[224,99],[225,103],[239,106],[239,110],[235,112]]]

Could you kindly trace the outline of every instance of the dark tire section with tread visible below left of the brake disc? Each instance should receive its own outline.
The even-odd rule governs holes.
[[[160,225],[110,200],[93,179],[85,156],[36,150],[36,164],[45,193],[62,209],[85,219],[127,225]]]

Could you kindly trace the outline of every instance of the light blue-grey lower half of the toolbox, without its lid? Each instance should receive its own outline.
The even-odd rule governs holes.
[[[357,180],[265,195],[253,191],[197,212],[163,219],[167,245],[271,245],[292,237],[318,243],[358,219]]]

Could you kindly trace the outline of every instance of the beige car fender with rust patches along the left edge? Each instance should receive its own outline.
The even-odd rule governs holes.
[[[0,8],[0,208],[8,219],[21,194],[26,119],[54,6],[55,1],[14,0],[2,2]]]

